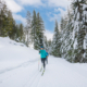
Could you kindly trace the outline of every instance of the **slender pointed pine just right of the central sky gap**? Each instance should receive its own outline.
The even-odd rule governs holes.
[[[60,33],[58,22],[55,21],[54,35],[52,40],[52,54],[55,57],[61,57],[60,54]]]

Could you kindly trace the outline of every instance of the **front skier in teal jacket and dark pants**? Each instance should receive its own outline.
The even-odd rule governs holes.
[[[41,63],[42,63],[42,66],[44,66],[44,72],[45,72],[45,69],[46,69],[46,64],[45,64],[45,61],[46,61],[46,50],[44,49],[44,47],[41,46],[40,47],[40,51],[39,51],[39,54],[40,54],[40,58],[41,58]],[[42,70],[42,67],[41,67]],[[40,71],[41,71],[40,70]]]

